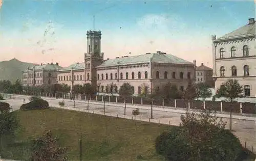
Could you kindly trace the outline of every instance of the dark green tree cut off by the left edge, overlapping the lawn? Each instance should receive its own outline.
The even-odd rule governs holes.
[[[18,120],[14,113],[10,113],[10,104],[1,103],[0,108],[0,151],[2,148],[2,138],[4,136],[14,135],[18,127]],[[5,106],[5,107],[3,107]]]

